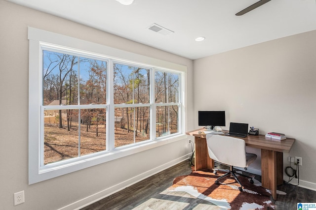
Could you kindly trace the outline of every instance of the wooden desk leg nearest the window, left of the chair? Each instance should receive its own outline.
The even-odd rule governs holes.
[[[214,169],[214,161],[209,157],[205,138],[195,137],[195,171]]]

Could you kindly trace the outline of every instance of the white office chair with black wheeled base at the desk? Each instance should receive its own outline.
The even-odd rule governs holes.
[[[257,155],[253,153],[246,153],[246,145],[243,139],[216,134],[207,134],[206,142],[209,157],[217,162],[230,166],[230,170],[224,170],[227,171],[227,173],[219,177],[215,183],[219,184],[220,179],[233,175],[238,184],[240,184],[238,189],[241,192],[243,186],[237,179],[234,166],[246,169],[246,167],[255,161]],[[214,174],[216,174],[216,171],[214,171]],[[253,183],[251,177],[239,173],[238,175],[249,178],[250,183]]]

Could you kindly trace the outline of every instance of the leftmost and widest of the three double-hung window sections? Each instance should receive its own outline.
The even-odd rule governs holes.
[[[41,166],[106,150],[108,62],[45,49]]]

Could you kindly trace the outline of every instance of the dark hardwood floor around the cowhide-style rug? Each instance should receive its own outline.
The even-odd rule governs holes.
[[[158,206],[159,209],[169,210],[173,209],[172,205],[177,205],[177,209],[182,210],[219,210],[220,208],[185,192],[166,191],[174,178],[191,172],[189,161],[183,161],[81,210],[155,210]],[[261,177],[256,176],[256,179],[261,180]],[[286,195],[277,196],[277,210],[297,210],[298,202],[316,202],[316,191],[287,183],[277,189],[286,192]],[[162,205],[165,208],[162,208]]]

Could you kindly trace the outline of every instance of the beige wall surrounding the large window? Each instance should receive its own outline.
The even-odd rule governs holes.
[[[113,193],[118,186],[168,168],[188,154],[188,140],[184,139],[28,185],[28,27],[185,65],[186,97],[191,99],[193,94],[192,60],[0,0],[0,209],[75,209]],[[193,129],[192,100],[188,100],[186,109],[186,129]],[[21,190],[25,191],[25,203],[14,207],[13,193]]]

